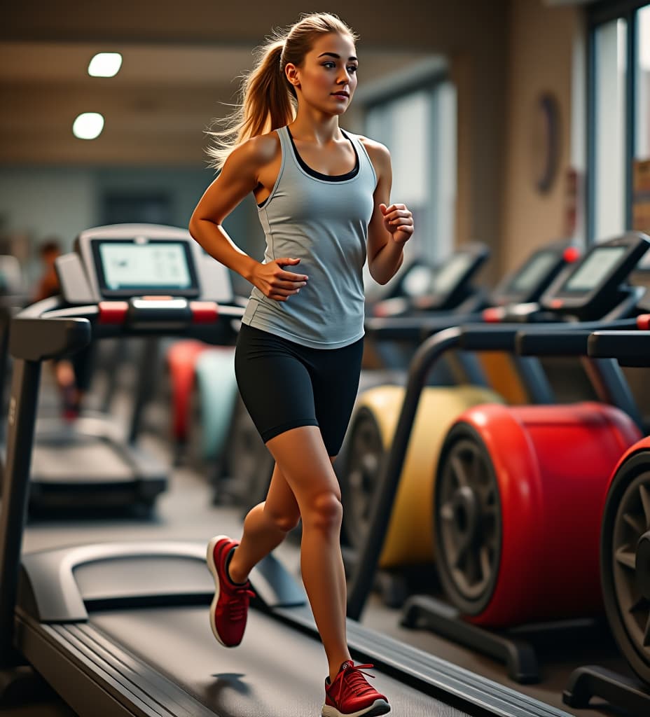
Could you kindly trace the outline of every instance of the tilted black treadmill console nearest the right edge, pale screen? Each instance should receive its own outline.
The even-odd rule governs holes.
[[[600,305],[613,303],[649,248],[650,237],[641,232],[628,232],[595,244],[542,295],[542,308],[582,316]]]

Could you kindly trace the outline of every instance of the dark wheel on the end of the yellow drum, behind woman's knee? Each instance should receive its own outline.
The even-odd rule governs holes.
[[[350,546],[363,545],[373,498],[377,490],[377,477],[381,475],[385,450],[382,434],[375,414],[360,407],[349,428],[341,481],[343,530]]]

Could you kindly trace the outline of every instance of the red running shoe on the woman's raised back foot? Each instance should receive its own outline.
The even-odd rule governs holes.
[[[239,543],[227,536],[216,536],[207,545],[207,566],[215,579],[215,597],[210,605],[210,625],[215,637],[225,647],[239,645],[246,629],[248,604],[255,593],[250,581],[232,582],[227,570],[230,551]]]

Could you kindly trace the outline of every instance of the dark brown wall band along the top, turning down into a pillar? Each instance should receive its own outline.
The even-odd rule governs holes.
[[[433,0],[396,6],[388,0],[333,1],[356,29],[364,47],[418,49],[451,62],[458,86],[458,208],[456,242],[501,237],[500,200],[504,151],[504,63],[507,0]],[[294,22],[305,11],[298,0],[237,4],[186,0],[115,2],[105,8],[68,0],[25,0],[8,6],[1,39],[29,41],[223,43],[253,47],[271,28]],[[361,75],[362,76],[362,75]]]

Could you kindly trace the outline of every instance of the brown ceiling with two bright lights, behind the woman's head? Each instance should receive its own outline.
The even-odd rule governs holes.
[[[89,77],[97,52],[121,52],[116,77]],[[430,62],[419,50],[367,49],[364,86]],[[228,111],[249,43],[0,42],[0,163],[201,166],[204,128]],[[353,105],[354,106],[354,105]],[[93,141],[72,136],[82,112],[105,117]]]

